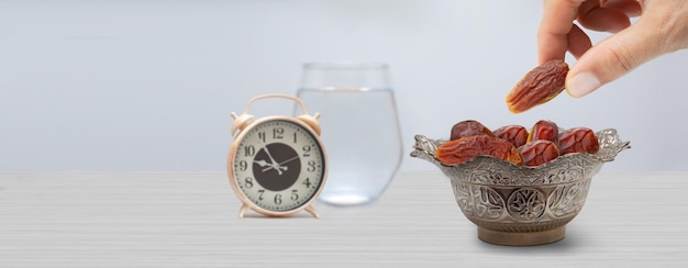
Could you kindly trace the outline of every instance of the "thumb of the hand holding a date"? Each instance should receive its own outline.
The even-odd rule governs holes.
[[[568,94],[586,96],[666,53],[661,36],[653,32],[639,21],[590,47],[568,71]]]

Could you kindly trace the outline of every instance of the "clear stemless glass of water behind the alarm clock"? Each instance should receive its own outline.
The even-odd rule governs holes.
[[[319,200],[334,205],[375,201],[401,164],[401,134],[389,67],[371,63],[308,63],[297,90],[320,113],[328,180]],[[298,111],[295,111],[295,114]]]

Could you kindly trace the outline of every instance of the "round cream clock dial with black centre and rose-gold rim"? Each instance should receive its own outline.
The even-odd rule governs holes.
[[[258,121],[237,136],[230,167],[237,189],[254,205],[275,212],[308,204],[325,177],[322,145],[289,120]]]

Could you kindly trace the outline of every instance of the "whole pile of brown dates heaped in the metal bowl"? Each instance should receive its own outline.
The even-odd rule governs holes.
[[[595,133],[587,127],[559,131],[556,123],[537,121],[530,132],[522,125],[506,125],[490,130],[475,120],[452,126],[450,142],[435,150],[444,165],[458,165],[478,155],[491,155],[519,166],[535,167],[562,155],[595,154],[600,146]]]

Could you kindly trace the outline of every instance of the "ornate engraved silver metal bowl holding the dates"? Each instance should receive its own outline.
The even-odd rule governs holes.
[[[452,181],[456,203],[478,226],[481,241],[499,245],[541,245],[564,238],[566,224],[582,209],[593,175],[630,148],[613,129],[596,133],[597,154],[568,154],[537,167],[477,156],[447,166],[434,155],[447,139],[415,135],[412,157],[437,166]]]

